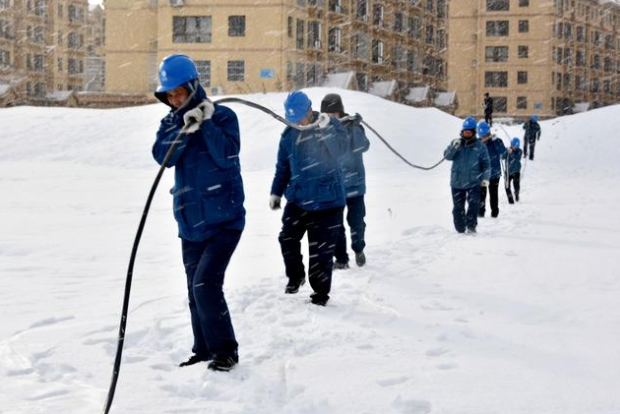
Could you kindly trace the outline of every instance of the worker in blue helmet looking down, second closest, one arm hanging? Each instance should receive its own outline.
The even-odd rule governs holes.
[[[289,122],[318,127],[299,131],[287,127],[280,138],[276,172],[269,206],[287,203],[278,237],[288,283],[285,293],[294,294],[306,281],[301,240],[308,233],[308,279],[315,305],[325,306],[332,282],[334,247],[342,227],[345,205],[344,175],[340,158],[346,152],[347,131],[337,119],[312,111],[308,96],[295,91],[284,103]]]

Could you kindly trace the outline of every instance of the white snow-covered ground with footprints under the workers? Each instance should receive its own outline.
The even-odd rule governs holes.
[[[317,105],[327,92],[309,90]],[[458,133],[435,109],[340,92],[418,164]],[[282,112],[284,96],[245,98]],[[308,304],[307,285],[283,294],[280,213],[267,206],[282,125],[232,107],[248,224],[226,293],[241,363],[177,368],[191,332],[168,171],[138,254],[113,413],[620,412],[620,106],[543,122],[522,202],[500,194],[500,217],[475,237],[453,230],[449,163],[410,169],[369,134],[368,265],[334,274],[326,308]],[[1,413],[101,410],[165,112],[0,110]]]

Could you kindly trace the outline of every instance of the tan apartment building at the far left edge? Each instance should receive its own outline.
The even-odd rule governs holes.
[[[81,90],[87,0],[0,0],[0,83],[20,102]]]

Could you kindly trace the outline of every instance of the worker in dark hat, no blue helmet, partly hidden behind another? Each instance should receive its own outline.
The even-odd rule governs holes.
[[[331,118],[342,118],[348,116],[344,111],[342,98],[340,95],[330,93],[325,95],[321,102],[321,112],[326,113]],[[358,115],[355,120],[345,124],[348,134],[347,150],[342,157],[342,172],[344,174],[344,189],[346,194],[347,223],[351,229],[351,248],[355,253],[355,263],[358,266],[366,264],[364,239],[366,223],[366,205],[364,194],[366,194],[366,172],[364,169],[363,154],[370,148],[370,141],[366,137],[364,127],[360,125],[361,117]],[[349,255],[347,253],[347,236],[344,225],[338,234],[336,243],[336,262],[334,269],[348,269]]]

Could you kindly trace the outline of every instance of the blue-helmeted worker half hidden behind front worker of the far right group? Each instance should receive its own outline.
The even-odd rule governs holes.
[[[488,187],[480,189],[480,211],[478,217],[484,217],[486,212],[487,192],[491,205],[491,217],[499,215],[499,179],[502,176],[501,156],[506,152],[504,142],[491,132],[491,127],[485,121],[478,124],[478,137],[486,145],[491,163],[491,179]]]

